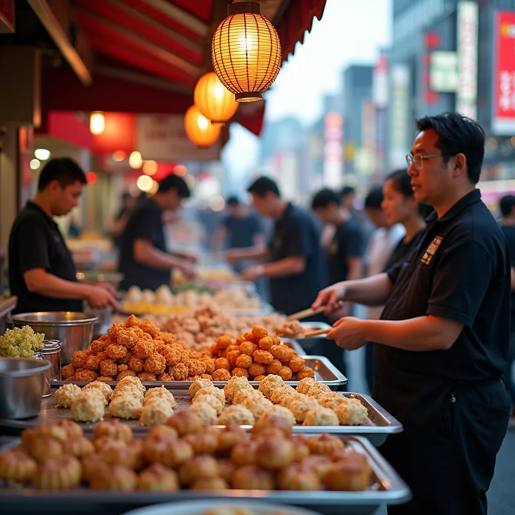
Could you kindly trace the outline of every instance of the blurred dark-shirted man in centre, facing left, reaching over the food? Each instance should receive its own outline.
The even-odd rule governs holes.
[[[242,273],[242,279],[266,277],[270,299],[276,311],[290,315],[310,306],[325,284],[320,235],[314,221],[301,209],[283,200],[277,184],[261,177],[250,187],[256,211],[276,221],[268,247],[230,249],[227,259],[259,260]]]

